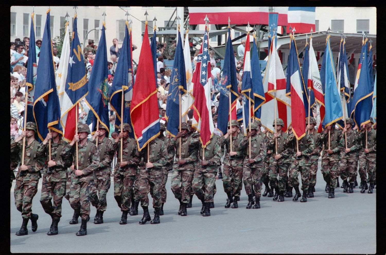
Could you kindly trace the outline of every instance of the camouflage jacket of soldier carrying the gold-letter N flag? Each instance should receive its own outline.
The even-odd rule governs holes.
[[[89,150],[87,149],[88,146],[90,146]],[[72,149],[74,155],[74,168],[76,169],[76,143]],[[99,167],[99,152],[97,146],[91,141],[87,140],[83,145],[78,142],[78,166],[83,175],[76,176],[75,171],[73,171],[73,173],[71,173],[73,182],[79,183],[97,179],[95,171]]]

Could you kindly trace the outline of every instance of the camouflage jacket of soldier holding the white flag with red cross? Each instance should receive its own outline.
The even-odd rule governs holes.
[[[275,159],[276,155],[276,139],[273,138],[273,134],[269,136],[267,149],[271,151],[271,156],[269,157],[269,164],[288,164],[290,161],[291,153],[293,153],[292,144],[287,144],[288,134],[281,132],[278,136],[278,154],[281,154],[279,160]]]

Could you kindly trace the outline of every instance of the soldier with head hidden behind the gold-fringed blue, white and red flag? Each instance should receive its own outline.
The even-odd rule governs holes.
[[[315,144],[311,136],[307,133],[296,141],[294,133],[291,133],[287,138],[287,143],[292,143],[295,148],[299,148],[299,151],[294,151],[291,153],[291,159],[289,164],[289,183],[295,188],[295,196],[292,201],[298,201],[300,197],[299,191],[299,173],[301,174],[301,190],[303,190],[303,196],[301,197],[300,202],[307,202],[307,193],[310,186],[310,181],[308,177],[310,175],[310,154],[312,153]],[[296,145],[296,143],[298,143]],[[297,150],[297,149],[296,149]]]

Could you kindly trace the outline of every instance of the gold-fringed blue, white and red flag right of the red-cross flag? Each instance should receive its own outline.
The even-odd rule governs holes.
[[[301,77],[300,65],[298,60],[298,51],[296,50],[295,38],[292,36],[287,65],[287,84],[290,84],[291,91],[291,118],[292,131],[297,140],[300,140],[306,134],[306,112],[304,109],[303,79]]]

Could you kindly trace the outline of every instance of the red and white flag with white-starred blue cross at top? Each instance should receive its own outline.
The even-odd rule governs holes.
[[[210,138],[213,136],[215,129],[210,100],[212,76],[210,73],[207,26],[205,26],[204,40],[201,45],[200,54],[198,54],[192,83],[193,97],[195,99],[192,126],[200,132],[202,148],[205,148],[210,143]]]

